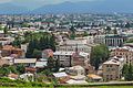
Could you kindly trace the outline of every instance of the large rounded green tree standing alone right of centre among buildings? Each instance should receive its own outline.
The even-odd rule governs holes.
[[[109,55],[110,52],[106,45],[96,45],[92,47],[90,63],[95,67],[95,69],[98,69],[103,62],[108,61]]]

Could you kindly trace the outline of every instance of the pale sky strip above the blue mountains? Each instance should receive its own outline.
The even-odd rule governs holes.
[[[65,1],[95,1],[95,0],[0,0],[0,3],[11,2],[17,6],[25,7],[28,9],[37,9],[45,4],[57,4]]]

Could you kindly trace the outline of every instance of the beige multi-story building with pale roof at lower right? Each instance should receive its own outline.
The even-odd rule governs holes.
[[[125,64],[124,58],[112,57],[110,61],[103,63],[103,79],[104,81],[117,80],[122,76],[122,68]]]

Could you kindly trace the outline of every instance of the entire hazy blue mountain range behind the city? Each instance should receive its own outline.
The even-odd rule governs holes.
[[[13,3],[1,3],[0,14],[19,13],[90,13],[90,12],[125,12],[133,13],[133,0],[99,0],[63,2],[58,4],[48,4],[41,8],[29,10]]]

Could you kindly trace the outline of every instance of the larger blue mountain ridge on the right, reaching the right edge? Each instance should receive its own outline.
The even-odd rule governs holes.
[[[44,6],[34,10],[34,13],[89,13],[89,12],[133,12],[133,0],[103,0],[63,2]]]

